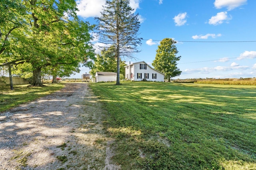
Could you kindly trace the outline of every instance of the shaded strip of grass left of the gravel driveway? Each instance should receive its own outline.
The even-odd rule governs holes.
[[[16,107],[20,104],[36,100],[56,92],[64,87],[64,84],[47,84],[44,87],[28,87],[28,85],[14,86],[10,90],[9,86],[0,86],[0,112]]]

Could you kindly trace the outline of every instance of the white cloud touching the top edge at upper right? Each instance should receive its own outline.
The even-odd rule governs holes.
[[[215,0],[214,6],[217,9],[226,7],[229,11],[238,6],[246,4],[247,0]]]

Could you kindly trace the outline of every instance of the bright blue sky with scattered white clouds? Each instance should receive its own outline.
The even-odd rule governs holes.
[[[78,16],[91,24],[105,4],[76,2]],[[256,77],[256,0],[130,0],[130,6],[139,14],[139,37],[144,40],[136,60],[125,61],[151,64],[160,41],[172,38],[182,71],[174,79]],[[93,43],[98,45],[97,39]],[[71,77],[88,71],[81,68]]]

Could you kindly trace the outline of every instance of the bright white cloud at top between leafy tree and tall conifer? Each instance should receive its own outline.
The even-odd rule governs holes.
[[[83,18],[99,17],[105,0],[78,0],[76,1],[78,12],[77,15]]]

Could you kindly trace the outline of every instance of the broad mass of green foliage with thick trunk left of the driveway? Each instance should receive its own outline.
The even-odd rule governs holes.
[[[22,4],[4,0],[4,3],[0,12],[6,12],[4,18],[8,22],[0,24],[0,66],[30,63],[32,85],[42,86],[41,71],[69,76],[79,72],[80,63],[91,65],[94,49],[89,31],[93,26],[78,19],[75,0],[24,0]],[[2,35],[5,37],[1,38]]]

